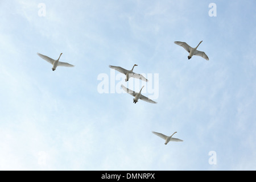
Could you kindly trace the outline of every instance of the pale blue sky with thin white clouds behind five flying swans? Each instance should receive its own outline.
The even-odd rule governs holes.
[[[210,3],[217,16],[209,16]],[[0,169],[255,170],[255,5],[0,1]],[[174,44],[201,40],[209,61],[188,60]],[[60,61],[75,67],[53,72],[36,52],[63,52]],[[153,86],[158,104],[99,93],[102,74],[127,84],[109,65],[134,64],[153,75],[137,84],[149,98]],[[164,145],[151,131],[177,131],[184,142]]]

